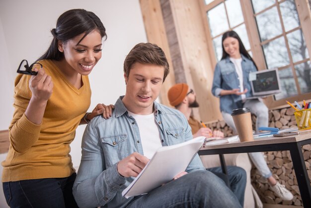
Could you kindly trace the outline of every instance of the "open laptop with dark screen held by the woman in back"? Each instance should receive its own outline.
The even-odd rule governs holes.
[[[249,74],[249,81],[253,97],[249,99],[264,98],[281,93],[278,69],[267,69]]]

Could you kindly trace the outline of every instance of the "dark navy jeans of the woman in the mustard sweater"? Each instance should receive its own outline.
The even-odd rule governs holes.
[[[73,196],[76,176],[4,182],[6,203],[11,208],[78,208]]]

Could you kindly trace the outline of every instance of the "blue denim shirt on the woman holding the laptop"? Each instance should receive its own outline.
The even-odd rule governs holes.
[[[249,73],[255,72],[256,67],[254,63],[241,55],[242,71],[243,71],[243,84],[244,89],[247,89],[245,94],[246,98],[252,96],[251,86],[249,82]],[[228,56],[226,59],[219,61],[215,67],[214,80],[212,86],[212,94],[220,98],[220,110],[227,113],[231,113],[233,109],[243,106],[241,96],[226,95],[220,96],[222,90],[239,89],[238,76],[234,67],[234,64]]]

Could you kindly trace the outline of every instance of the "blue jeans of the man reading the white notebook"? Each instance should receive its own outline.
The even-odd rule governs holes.
[[[127,208],[241,208],[223,180],[197,170],[135,197]]]

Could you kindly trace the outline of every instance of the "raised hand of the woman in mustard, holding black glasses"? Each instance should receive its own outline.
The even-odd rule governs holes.
[[[38,72],[36,76],[31,76],[29,80],[29,89],[32,93],[32,99],[37,101],[48,101],[53,93],[53,81],[51,76],[47,75],[43,68],[34,69]]]

